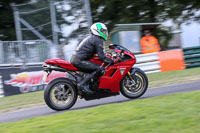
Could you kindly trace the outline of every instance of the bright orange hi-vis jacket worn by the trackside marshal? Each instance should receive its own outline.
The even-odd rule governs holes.
[[[142,53],[153,53],[161,50],[158,39],[154,36],[144,36],[140,40]]]

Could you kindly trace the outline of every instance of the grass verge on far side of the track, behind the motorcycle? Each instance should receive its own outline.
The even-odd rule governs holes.
[[[200,68],[148,74],[149,87],[200,80]],[[0,113],[45,105],[43,91],[0,98]]]

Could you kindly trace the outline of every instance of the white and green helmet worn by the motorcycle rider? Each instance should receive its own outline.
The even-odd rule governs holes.
[[[108,29],[103,23],[94,23],[90,27],[92,34],[102,37],[104,40],[108,39]]]

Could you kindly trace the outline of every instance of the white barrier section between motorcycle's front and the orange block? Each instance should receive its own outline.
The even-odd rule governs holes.
[[[145,73],[161,72],[158,53],[136,55],[136,59],[134,67],[139,67]]]

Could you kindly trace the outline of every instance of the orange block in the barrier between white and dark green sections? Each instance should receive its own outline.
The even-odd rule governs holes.
[[[158,57],[162,72],[185,69],[183,51],[181,49],[159,52]]]

